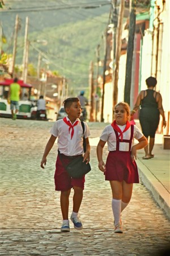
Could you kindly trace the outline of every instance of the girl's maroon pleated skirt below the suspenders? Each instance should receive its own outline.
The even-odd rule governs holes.
[[[105,180],[139,183],[137,163],[132,162],[130,152],[110,151],[105,167]]]

